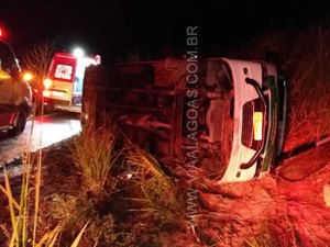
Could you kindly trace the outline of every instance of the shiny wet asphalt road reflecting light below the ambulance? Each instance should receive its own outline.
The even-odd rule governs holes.
[[[7,133],[0,132],[0,166],[21,157],[28,148],[35,151],[79,132],[79,115],[68,112],[56,112],[31,119],[24,132],[16,137],[9,137]]]

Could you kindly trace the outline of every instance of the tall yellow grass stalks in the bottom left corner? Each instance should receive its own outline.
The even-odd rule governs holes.
[[[30,139],[22,158],[20,193],[12,190],[6,166],[3,167],[4,186],[0,184],[0,191],[6,195],[8,201],[11,227],[6,227],[6,224],[3,224],[1,228],[8,236],[7,246],[9,247],[53,247],[58,242],[58,235],[62,233],[63,227],[61,224],[47,227],[47,229],[41,227],[40,200],[42,198],[43,150],[40,149],[32,156]],[[81,226],[70,245],[72,247],[78,246],[87,225],[88,221]]]

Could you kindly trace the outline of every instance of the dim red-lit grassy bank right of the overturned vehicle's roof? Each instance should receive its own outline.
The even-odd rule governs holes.
[[[290,78],[289,141],[286,148],[309,143],[330,133],[329,30],[317,26],[299,35],[286,69]]]

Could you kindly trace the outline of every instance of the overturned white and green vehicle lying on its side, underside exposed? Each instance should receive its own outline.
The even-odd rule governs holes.
[[[270,172],[280,154],[286,81],[273,64],[222,57],[89,67],[82,126],[105,113],[165,167],[246,181]]]

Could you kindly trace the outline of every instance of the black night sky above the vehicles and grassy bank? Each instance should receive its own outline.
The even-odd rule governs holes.
[[[107,64],[136,53],[180,56],[188,25],[198,25],[200,55],[221,55],[263,33],[327,20],[326,2],[0,0],[0,24],[19,53],[48,40],[57,49],[80,45]]]

